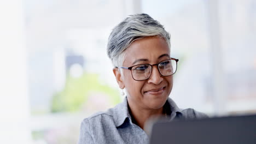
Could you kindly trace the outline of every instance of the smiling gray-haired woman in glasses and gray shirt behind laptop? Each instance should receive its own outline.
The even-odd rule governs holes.
[[[113,109],[85,118],[79,144],[148,143],[144,129],[152,116],[207,117],[193,109],[179,109],[168,98],[178,59],[171,57],[170,34],[149,15],[132,15],[119,23],[109,36],[107,53],[126,97]]]

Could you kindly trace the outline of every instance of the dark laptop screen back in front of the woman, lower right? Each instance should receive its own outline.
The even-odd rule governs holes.
[[[255,144],[256,115],[158,121],[150,144]]]

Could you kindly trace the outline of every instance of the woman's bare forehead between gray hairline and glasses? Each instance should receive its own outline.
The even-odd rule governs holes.
[[[170,48],[164,38],[147,37],[133,41],[126,49],[124,64],[132,64],[137,59],[148,59],[149,62],[157,62],[159,56],[168,54]]]

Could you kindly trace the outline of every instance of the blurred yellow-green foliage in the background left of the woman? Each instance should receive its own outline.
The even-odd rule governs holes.
[[[51,112],[75,112],[88,100],[91,92],[101,92],[108,95],[112,105],[121,101],[118,89],[103,85],[98,74],[84,73],[79,78],[68,76],[65,88],[53,95]]]

